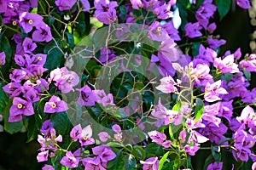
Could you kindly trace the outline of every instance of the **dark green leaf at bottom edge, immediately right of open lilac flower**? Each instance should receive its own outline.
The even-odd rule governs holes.
[[[108,168],[111,170],[125,170],[125,157],[122,150],[118,150],[113,161],[108,161]]]

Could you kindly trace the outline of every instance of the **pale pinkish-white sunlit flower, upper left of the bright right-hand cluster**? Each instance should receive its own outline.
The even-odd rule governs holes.
[[[160,79],[160,85],[155,88],[160,90],[162,93],[170,94],[177,92],[177,88],[175,87],[177,84],[179,83],[175,82],[172,77],[163,77]]]

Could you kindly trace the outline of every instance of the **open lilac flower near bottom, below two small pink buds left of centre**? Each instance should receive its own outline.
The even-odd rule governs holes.
[[[106,144],[92,148],[92,152],[94,155],[99,156],[103,162],[111,161],[116,157],[113,150]]]

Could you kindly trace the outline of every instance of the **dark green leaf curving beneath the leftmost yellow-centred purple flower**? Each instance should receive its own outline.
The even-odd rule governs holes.
[[[12,105],[12,99],[9,99],[8,105],[3,110],[3,119],[4,119],[4,130],[10,134],[20,132],[23,127],[23,122],[8,122],[9,119],[9,108]]]

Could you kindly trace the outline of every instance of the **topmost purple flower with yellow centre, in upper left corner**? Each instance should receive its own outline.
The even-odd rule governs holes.
[[[33,26],[38,26],[40,22],[43,22],[43,17],[39,14],[20,13],[19,23],[26,33],[32,31]]]

